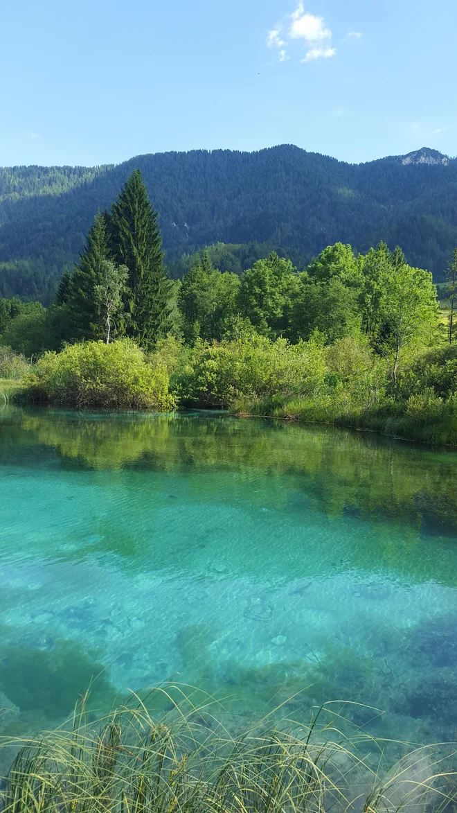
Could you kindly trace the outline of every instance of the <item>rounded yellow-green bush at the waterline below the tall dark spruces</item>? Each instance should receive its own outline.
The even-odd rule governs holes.
[[[45,353],[26,376],[27,394],[80,409],[155,409],[170,411],[175,399],[161,363],[148,363],[143,350],[123,339],[106,345],[85,341],[61,353]]]

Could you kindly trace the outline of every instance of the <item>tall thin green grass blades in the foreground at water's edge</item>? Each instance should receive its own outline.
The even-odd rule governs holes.
[[[70,727],[31,741],[3,737],[19,753],[0,792],[2,811],[377,813],[443,811],[455,802],[442,749],[413,750],[382,776],[386,743],[360,732],[344,737],[332,704],[307,725],[266,718],[233,734],[213,698],[197,707],[182,687],[155,691],[169,706],[157,717],[134,696],[88,722],[83,701]],[[362,755],[367,746],[380,770]]]

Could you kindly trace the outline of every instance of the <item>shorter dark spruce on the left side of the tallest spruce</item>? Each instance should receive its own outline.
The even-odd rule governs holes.
[[[100,314],[96,288],[101,285],[103,263],[110,260],[106,219],[97,212],[89,229],[80,262],[71,277],[71,294],[67,299],[69,333],[75,339],[100,337]]]

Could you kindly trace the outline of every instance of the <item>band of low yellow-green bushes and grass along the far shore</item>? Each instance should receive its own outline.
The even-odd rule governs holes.
[[[86,341],[43,354],[22,377],[24,360],[10,354],[6,363],[16,377],[0,379],[3,401],[80,410],[224,408],[457,446],[457,346],[413,354],[396,380],[388,359],[360,336],[291,345],[251,334],[193,346],[169,337],[153,352],[127,339]]]

